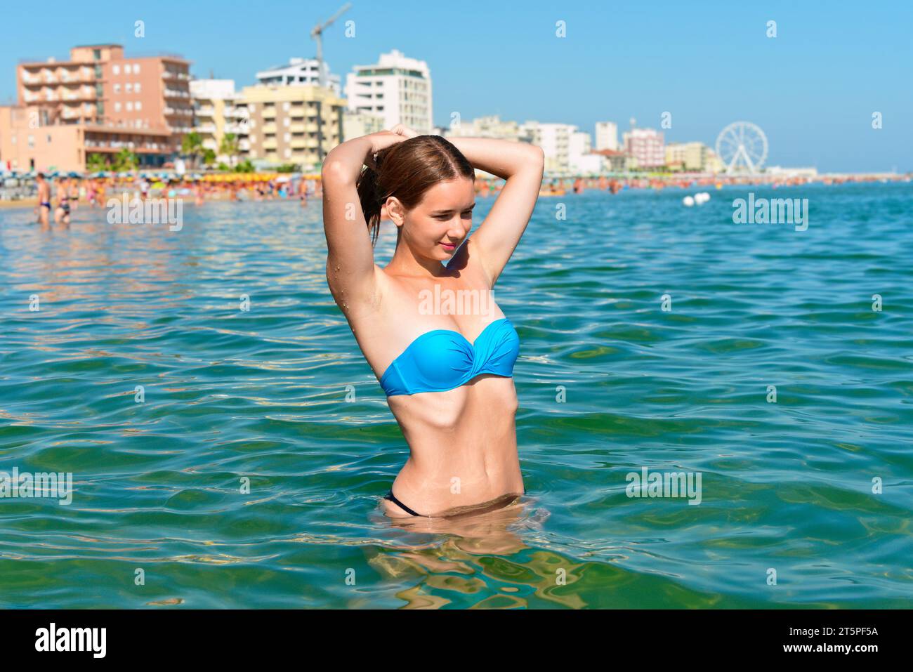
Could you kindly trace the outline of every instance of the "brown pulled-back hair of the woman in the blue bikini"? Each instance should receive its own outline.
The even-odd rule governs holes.
[[[476,179],[472,164],[440,135],[416,135],[397,142],[377,152],[374,163],[377,169],[365,166],[355,183],[372,245],[381,228],[381,208],[390,196],[411,209],[435,184],[459,177]]]

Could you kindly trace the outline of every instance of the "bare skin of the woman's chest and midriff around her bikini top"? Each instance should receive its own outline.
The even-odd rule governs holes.
[[[493,299],[484,271],[472,258],[471,239],[463,248],[457,254],[460,258],[449,265],[463,264],[456,277],[402,278],[375,266],[374,304],[344,310],[378,379],[427,331],[457,331],[472,343],[488,324],[506,317]],[[434,300],[423,302],[423,297],[434,296],[436,284],[442,298],[449,295],[459,302],[471,296],[462,305],[473,310],[445,314],[452,308],[443,301],[440,305]],[[444,392],[388,396],[387,404],[411,451],[393,488],[410,508],[431,515],[523,492],[512,378],[483,373]]]

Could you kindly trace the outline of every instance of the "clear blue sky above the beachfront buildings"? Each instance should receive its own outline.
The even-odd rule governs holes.
[[[115,42],[131,53],[170,51],[191,72],[253,83],[257,69],[311,57],[311,26],[344,0],[4,3],[0,101],[16,95],[20,58],[66,57],[68,47]],[[507,6],[514,5],[514,6]],[[145,37],[133,37],[134,21]],[[765,36],[768,20],[777,37]],[[344,22],[355,22],[355,37]],[[555,37],[555,22],[567,37]],[[913,2],[380,2],[352,8],[324,37],[345,80],[354,64],[398,48],[424,59],[434,118],[446,125],[498,113],[561,121],[635,117],[666,142],[713,144],[730,121],[754,121],[768,164],[823,171],[913,170]],[[872,112],[884,128],[871,126]]]

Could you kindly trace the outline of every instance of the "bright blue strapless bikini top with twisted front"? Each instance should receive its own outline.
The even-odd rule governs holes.
[[[488,324],[475,343],[459,331],[425,331],[383,372],[381,387],[396,396],[446,392],[482,373],[510,378],[518,355],[519,336],[507,318]]]

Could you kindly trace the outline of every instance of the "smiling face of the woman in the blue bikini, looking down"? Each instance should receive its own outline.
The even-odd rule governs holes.
[[[452,257],[468,236],[475,206],[475,184],[466,177],[431,187],[412,210],[395,197],[387,200],[387,212],[413,254],[440,260]]]

